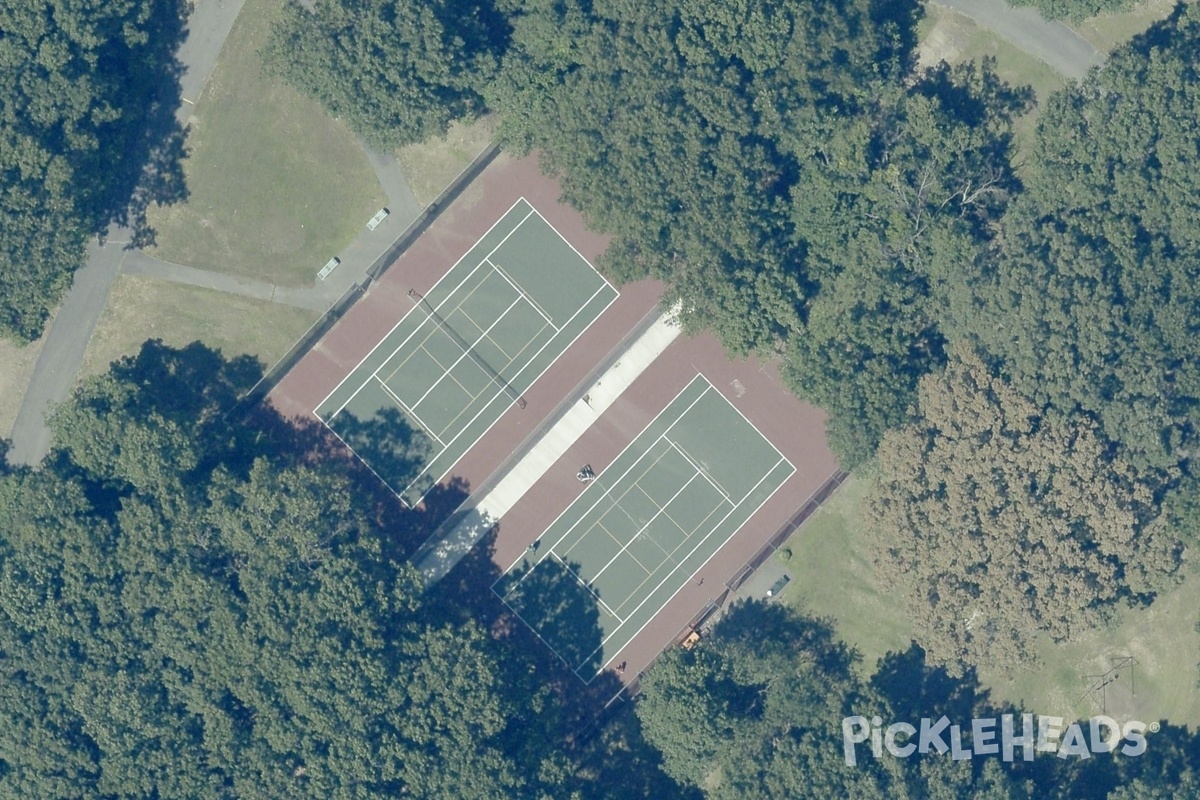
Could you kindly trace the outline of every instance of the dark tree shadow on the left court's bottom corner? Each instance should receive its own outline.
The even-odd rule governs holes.
[[[383,408],[365,420],[343,410],[330,427],[392,491],[421,495],[432,488],[432,479],[421,471],[433,456],[433,443],[398,409]]]

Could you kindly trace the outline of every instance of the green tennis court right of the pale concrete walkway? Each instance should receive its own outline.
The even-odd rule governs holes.
[[[700,375],[493,590],[590,681],[793,471]]]

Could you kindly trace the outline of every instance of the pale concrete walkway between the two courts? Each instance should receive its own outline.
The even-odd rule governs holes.
[[[659,317],[492,489],[434,531],[413,557],[426,585],[444,578],[678,336],[674,314]]]

